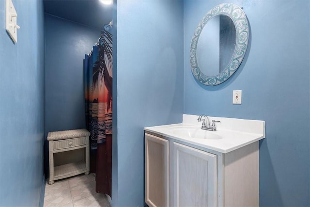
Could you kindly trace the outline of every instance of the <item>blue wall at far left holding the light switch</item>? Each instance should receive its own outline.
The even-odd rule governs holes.
[[[5,31],[5,1],[0,0],[0,206],[39,206],[45,139],[43,1],[13,3],[20,26],[16,44]]]

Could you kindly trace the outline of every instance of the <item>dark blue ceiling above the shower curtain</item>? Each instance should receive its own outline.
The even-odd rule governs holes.
[[[112,20],[112,8],[99,0],[44,0],[45,13],[97,29]]]

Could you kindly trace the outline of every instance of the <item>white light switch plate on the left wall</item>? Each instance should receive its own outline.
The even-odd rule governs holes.
[[[12,40],[17,43],[17,13],[12,0],[6,0],[5,5],[5,30],[9,33]]]

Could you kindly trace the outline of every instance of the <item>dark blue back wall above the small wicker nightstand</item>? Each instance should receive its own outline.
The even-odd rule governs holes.
[[[83,59],[100,31],[45,15],[46,133],[85,128]]]

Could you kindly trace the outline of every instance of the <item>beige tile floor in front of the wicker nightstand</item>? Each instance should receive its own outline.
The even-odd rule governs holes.
[[[105,194],[96,193],[95,175],[77,175],[45,187],[44,207],[111,207]]]

